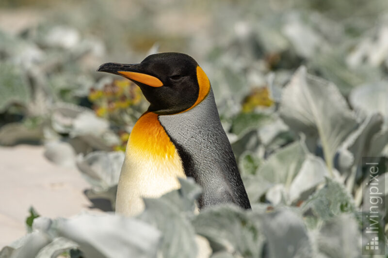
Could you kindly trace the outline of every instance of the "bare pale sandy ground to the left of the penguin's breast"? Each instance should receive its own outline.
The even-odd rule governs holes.
[[[30,206],[50,218],[92,206],[83,195],[90,185],[77,168],[58,167],[43,152],[43,146],[0,147],[0,249],[26,234]]]

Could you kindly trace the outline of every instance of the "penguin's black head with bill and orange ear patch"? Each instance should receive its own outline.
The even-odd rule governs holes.
[[[210,91],[210,82],[197,62],[181,53],[161,53],[141,63],[104,63],[98,72],[124,76],[136,83],[150,103],[148,111],[160,115],[187,111]]]

